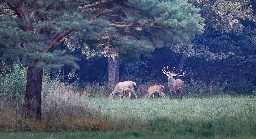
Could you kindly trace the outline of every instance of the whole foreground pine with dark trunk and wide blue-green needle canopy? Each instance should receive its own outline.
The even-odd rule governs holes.
[[[169,0],[0,0],[3,56],[27,59],[24,115],[41,118],[42,74],[77,59],[60,42],[95,53],[150,54],[201,33],[199,9]]]

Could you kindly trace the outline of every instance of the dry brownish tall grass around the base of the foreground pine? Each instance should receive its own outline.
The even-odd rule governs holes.
[[[101,120],[101,112],[88,107],[86,96],[78,95],[71,87],[56,82],[42,97],[41,120],[24,119],[22,99],[0,101],[0,131],[95,131],[107,130],[109,124]]]

